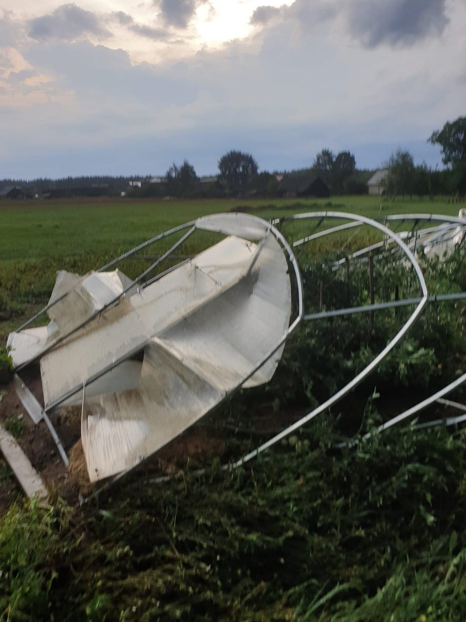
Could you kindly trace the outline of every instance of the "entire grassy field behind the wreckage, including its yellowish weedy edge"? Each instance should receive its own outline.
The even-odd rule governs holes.
[[[393,213],[422,211],[456,215],[458,206],[447,198],[434,201],[384,201],[380,197],[331,197],[304,200],[57,200],[0,204],[0,340],[47,302],[58,269],[85,274],[163,231],[201,215],[236,207],[262,218],[290,216],[304,211],[334,210],[381,218]],[[334,226],[335,220],[287,223],[283,230],[293,241],[302,234]],[[405,223],[403,228],[409,228]],[[180,234],[181,235],[181,234]],[[380,239],[369,227],[321,238],[299,253],[345,253]],[[176,241],[163,239],[144,253],[153,261]],[[179,253],[192,255],[214,241],[212,234],[194,234]],[[179,257],[179,256],[178,256]],[[173,261],[178,261],[174,258]],[[131,277],[147,267],[147,259],[131,259],[119,269]],[[165,262],[160,269],[170,264]]]

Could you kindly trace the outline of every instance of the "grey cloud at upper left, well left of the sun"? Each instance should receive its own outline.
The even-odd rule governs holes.
[[[71,41],[89,34],[109,36],[111,33],[101,26],[94,13],[76,4],[62,4],[52,13],[29,22],[29,36],[32,39]]]

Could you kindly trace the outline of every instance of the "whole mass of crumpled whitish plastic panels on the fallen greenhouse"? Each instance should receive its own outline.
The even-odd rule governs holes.
[[[91,481],[137,465],[240,386],[267,383],[280,360],[291,313],[280,234],[244,214],[195,226],[227,237],[140,290],[118,271],[59,272],[48,326],[9,337],[15,366],[40,361],[45,411],[82,404]]]

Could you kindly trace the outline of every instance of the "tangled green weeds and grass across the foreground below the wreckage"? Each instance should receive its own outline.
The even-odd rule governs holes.
[[[464,620],[464,434],[316,449],[329,425],[229,473],[121,482],[84,512],[15,506],[0,519],[4,616]]]

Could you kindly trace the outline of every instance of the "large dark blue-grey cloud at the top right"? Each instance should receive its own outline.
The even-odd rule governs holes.
[[[347,5],[352,35],[366,47],[412,45],[442,34],[449,19],[445,0],[352,0]]]

